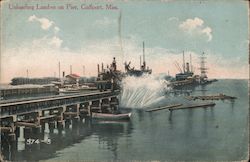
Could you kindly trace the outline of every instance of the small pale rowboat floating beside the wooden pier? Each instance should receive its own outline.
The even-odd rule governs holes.
[[[105,119],[105,120],[125,120],[130,119],[131,113],[126,114],[105,114],[105,113],[92,113],[92,118]]]

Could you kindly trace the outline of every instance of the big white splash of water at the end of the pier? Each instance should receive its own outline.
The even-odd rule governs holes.
[[[121,106],[143,108],[163,100],[168,82],[159,75],[128,76],[122,81]]]

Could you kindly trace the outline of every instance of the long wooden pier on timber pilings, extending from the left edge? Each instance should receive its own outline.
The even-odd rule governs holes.
[[[0,101],[1,136],[9,136],[15,141],[15,132],[20,127],[34,131],[45,123],[51,128],[55,123],[57,127],[63,127],[67,120],[91,117],[92,112],[116,110],[119,93],[104,91]]]

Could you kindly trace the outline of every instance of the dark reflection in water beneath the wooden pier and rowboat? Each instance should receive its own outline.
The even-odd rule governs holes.
[[[117,159],[119,136],[125,133],[130,134],[132,131],[129,128],[132,127],[130,122],[102,124],[93,122],[91,119],[67,121],[64,129],[47,125],[48,123],[40,129],[21,127],[18,141],[11,144],[8,140],[2,139],[2,154],[5,159],[11,161],[50,159],[56,156],[57,151],[79,143],[92,134],[98,135],[99,140],[106,143],[107,149],[113,152],[114,159]],[[33,144],[28,144],[30,139],[35,140]],[[39,139],[39,142],[36,139]],[[51,139],[51,144],[46,143],[48,139]],[[42,142],[43,140],[45,142]],[[21,147],[24,145],[24,147],[20,149],[19,145]]]

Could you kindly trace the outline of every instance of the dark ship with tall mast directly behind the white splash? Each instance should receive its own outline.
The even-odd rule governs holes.
[[[146,61],[145,61],[145,47],[144,47],[144,42],[142,43],[143,46],[143,63],[141,64],[141,57],[140,57],[140,69],[135,69],[134,67],[131,68],[130,64],[131,62],[127,63],[125,62],[125,74],[127,76],[142,76],[144,74],[151,74],[152,69],[149,69],[149,67],[146,66]]]

